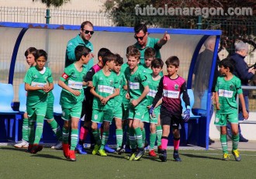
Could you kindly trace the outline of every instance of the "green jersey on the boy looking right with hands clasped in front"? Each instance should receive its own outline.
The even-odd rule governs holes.
[[[103,98],[112,95],[115,89],[119,88],[119,81],[116,73],[111,72],[111,74],[107,77],[102,70],[93,75],[92,84],[95,87],[95,92],[98,95],[101,95]],[[106,110],[109,108],[114,108],[115,100],[114,98],[109,99],[106,105],[102,105],[99,98],[93,98],[92,108],[99,110]]]

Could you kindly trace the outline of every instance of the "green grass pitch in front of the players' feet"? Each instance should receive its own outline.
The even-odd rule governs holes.
[[[0,178],[255,178],[256,153],[240,151],[242,160],[223,161],[219,150],[180,150],[182,162],[145,153],[140,161],[126,160],[127,153],[108,157],[77,154],[77,161],[64,158],[62,150],[43,148],[36,154],[13,146],[0,146]]]

